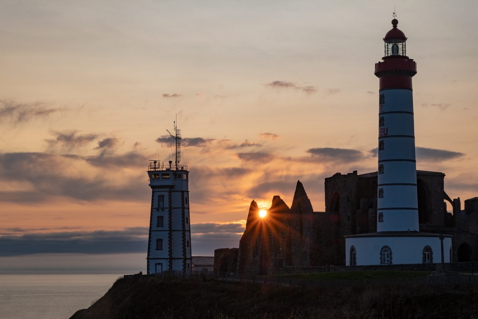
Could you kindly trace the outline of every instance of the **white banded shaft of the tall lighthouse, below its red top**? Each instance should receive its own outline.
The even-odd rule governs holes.
[[[383,174],[378,175],[377,231],[419,231],[418,199],[416,188],[416,163],[405,161],[381,162],[383,160],[415,160],[415,140],[413,114],[387,113],[393,111],[413,112],[413,92],[407,89],[380,91],[384,102],[380,104],[379,117],[384,125],[379,126],[379,166],[383,165]],[[386,185],[410,184],[410,185]],[[383,197],[380,196],[380,189]],[[400,209],[409,208],[409,209]],[[379,222],[379,216],[383,220]]]

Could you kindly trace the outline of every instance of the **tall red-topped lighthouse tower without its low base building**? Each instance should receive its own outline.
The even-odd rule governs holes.
[[[418,231],[412,77],[398,20],[385,35],[385,55],[375,64],[380,78],[377,231]]]

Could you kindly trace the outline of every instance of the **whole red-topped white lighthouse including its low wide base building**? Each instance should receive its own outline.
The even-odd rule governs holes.
[[[451,235],[419,230],[412,77],[407,37],[398,20],[383,38],[379,78],[377,232],[345,236],[347,265],[452,261]]]

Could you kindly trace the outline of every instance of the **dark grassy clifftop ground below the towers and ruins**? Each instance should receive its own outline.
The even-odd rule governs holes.
[[[280,287],[137,276],[71,319],[478,318],[478,287]]]

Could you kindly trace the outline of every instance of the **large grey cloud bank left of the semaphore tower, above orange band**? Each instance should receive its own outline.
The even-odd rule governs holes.
[[[109,163],[108,168],[131,165],[129,159],[121,156],[103,160]],[[99,160],[95,160],[98,165]],[[95,170],[94,166],[87,165],[95,160],[77,155],[47,153],[0,154],[0,179],[30,185],[28,190],[1,191],[0,201],[40,202],[55,197],[85,201],[143,200],[147,197],[147,185],[141,183],[137,176],[124,175],[120,181],[111,179],[106,171]]]

